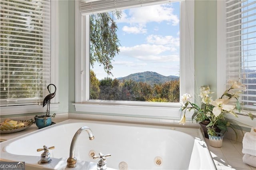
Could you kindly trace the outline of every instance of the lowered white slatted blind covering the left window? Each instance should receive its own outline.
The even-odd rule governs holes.
[[[0,105],[35,105],[50,83],[50,0],[0,0]]]

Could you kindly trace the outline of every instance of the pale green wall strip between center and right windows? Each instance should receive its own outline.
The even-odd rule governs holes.
[[[217,1],[195,2],[195,92],[209,85],[217,94]]]

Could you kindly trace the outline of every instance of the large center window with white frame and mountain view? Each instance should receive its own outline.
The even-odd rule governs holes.
[[[194,94],[194,2],[81,1],[77,9],[76,111],[178,117],[180,91]]]

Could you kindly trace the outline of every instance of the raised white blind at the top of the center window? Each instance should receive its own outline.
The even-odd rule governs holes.
[[[113,9],[127,9],[132,7],[161,4],[170,0],[81,0],[80,12],[92,14],[94,12],[108,12]],[[174,2],[172,0],[172,2]]]

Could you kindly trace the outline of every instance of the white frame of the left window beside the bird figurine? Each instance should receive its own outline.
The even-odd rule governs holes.
[[[58,89],[58,1],[51,0],[51,83]],[[58,110],[58,93],[51,101],[51,111]],[[45,112],[42,105],[14,105],[0,107],[1,115]]]

